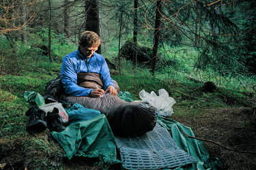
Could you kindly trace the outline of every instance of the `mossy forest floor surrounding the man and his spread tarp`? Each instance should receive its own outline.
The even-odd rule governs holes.
[[[48,73],[48,67],[43,71]],[[48,129],[34,134],[25,130],[29,119],[25,112],[30,106],[23,97],[24,91],[43,94],[46,82],[56,78],[55,71],[51,75],[41,72],[0,76],[0,169],[120,169],[119,165],[95,165],[95,160],[86,158],[67,160]],[[132,97],[136,96],[134,99],[139,99],[140,89],[156,92],[159,87],[165,88],[177,102],[171,119],[190,127],[195,137],[205,143],[210,158],[220,158],[224,169],[256,169],[254,94],[245,96],[221,88],[208,93],[202,91],[202,84],[171,84],[151,76],[114,78]]]

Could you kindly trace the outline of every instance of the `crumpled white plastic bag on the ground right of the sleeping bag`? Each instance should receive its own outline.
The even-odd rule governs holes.
[[[159,96],[156,95],[154,91],[146,92],[144,89],[139,92],[139,97],[143,101],[148,101],[151,105],[153,105],[161,116],[171,116],[173,114],[173,105],[176,101],[169,97],[167,90],[161,88],[158,90]]]

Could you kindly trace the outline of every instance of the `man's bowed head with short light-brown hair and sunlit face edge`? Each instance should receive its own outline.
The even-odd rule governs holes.
[[[81,34],[79,47],[84,56],[91,57],[100,46],[100,37],[92,31],[85,31]]]

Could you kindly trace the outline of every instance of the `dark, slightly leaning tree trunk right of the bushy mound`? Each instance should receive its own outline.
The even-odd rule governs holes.
[[[159,42],[159,33],[160,33],[160,18],[161,18],[161,0],[157,1],[156,5],[156,20],[155,20],[155,31],[154,31],[154,45],[152,52],[152,60],[151,60],[151,71],[152,75],[154,75],[156,71],[156,61],[157,61],[157,53],[158,53],[158,42]]]

